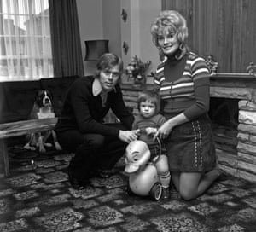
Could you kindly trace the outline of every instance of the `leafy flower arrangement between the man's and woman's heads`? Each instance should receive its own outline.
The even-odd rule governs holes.
[[[146,72],[150,65],[151,61],[143,62],[137,55],[135,55],[125,68],[125,73],[128,76],[128,79],[133,78],[133,83],[135,85],[143,85],[146,84]]]

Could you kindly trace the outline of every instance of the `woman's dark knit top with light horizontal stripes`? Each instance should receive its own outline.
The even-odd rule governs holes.
[[[209,109],[209,70],[203,58],[189,52],[181,61],[165,59],[156,69],[166,119],[184,113],[189,119],[206,115]]]

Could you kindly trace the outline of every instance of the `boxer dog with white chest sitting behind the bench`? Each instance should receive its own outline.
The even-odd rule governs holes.
[[[36,100],[30,113],[30,119],[46,119],[54,118],[55,113],[52,107],[52,95],[49,90],[38,90]],[[29,150],[36,150],[38,148],[39,153],[45,153],[45,147],[52,147],[52,144],[46,142],[46,140],[52,136],[56,150],[61,150],[61,145],[57,141],[57,137],[54,130],[44,132],[33,132],[28,135],[26,145],[24,148]]]

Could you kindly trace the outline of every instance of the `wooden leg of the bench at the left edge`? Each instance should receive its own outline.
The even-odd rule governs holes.
[[[0,140],[0,177],[9,177],[9,157],[4,139]]]

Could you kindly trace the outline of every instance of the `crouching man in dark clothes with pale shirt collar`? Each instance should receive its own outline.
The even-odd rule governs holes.
[[[79,78],[67,91],[55,126],[61,147],[75,153],[68,175],[77,189],[88,184],[92,171],[113,168],[127,143],[137,139],[136,131],[129,131],[134,118],[125,107],[118,84],[123,61],[117,55],[104,54],[96,68],[95,76]],[[104,123],[110,108],[120,124]]]

